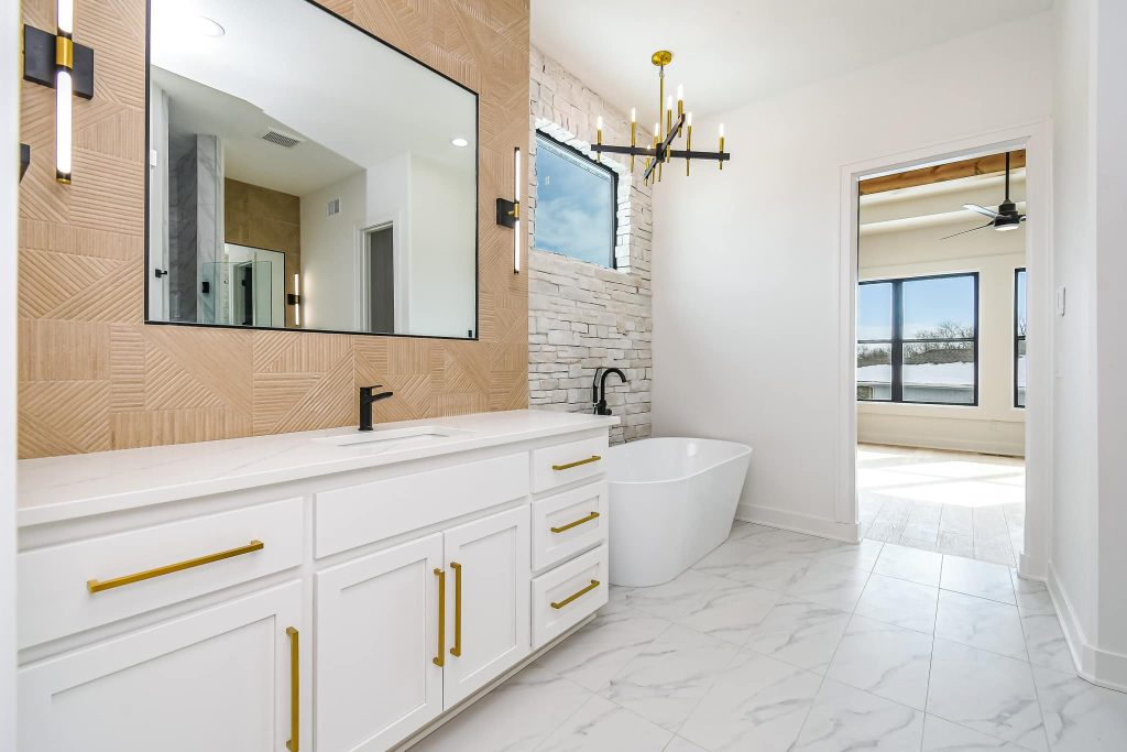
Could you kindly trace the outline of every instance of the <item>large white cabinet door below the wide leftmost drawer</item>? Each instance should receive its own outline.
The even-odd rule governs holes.
[[[19,749],[285,752],[300,618],[294,582],[30,664]]]

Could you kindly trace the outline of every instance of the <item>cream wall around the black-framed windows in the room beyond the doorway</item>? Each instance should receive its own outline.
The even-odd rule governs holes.
[[[858,440],[878,444],[955,449],[1023,455],[1026,412],[1013,406],[1014,269],[1026,266],[1026,229],[943,236],[985,223],[984,219],[898,231],[864,232],[888,218],[916,218],[952,211],[965,203],[997,205],[1003,186],[952,191],[919,198],[868,196],[861,204],[860,278],[978,273],[978,405],[894,405],[858,402]],[[1011,197],[1024,201],[1024,182],[1013,180]]]

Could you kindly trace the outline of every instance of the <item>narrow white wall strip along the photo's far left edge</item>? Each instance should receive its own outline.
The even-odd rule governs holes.
[[[16,749],[16,227],[19,3],[0,7],[0,752]],[[37,161],[52,159],[41,151]],[[41,174],[45,175],[41,170]],[[35,179],[34,177],[30,179]]]

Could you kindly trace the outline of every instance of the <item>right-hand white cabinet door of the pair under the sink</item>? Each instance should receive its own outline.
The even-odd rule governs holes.
[[[522,506],[444,534],[446,708],[529,654],[529,529]]]

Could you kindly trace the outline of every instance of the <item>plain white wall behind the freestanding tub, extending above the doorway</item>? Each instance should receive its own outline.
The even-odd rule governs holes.
[[[842,167],[1051,113],[1041,14],[694,123],[734,154],[655,191],[655,435],[755,453],[740,514],[848,536],[838,461]],[[976,86],[1006,71],[1006,86]]]

